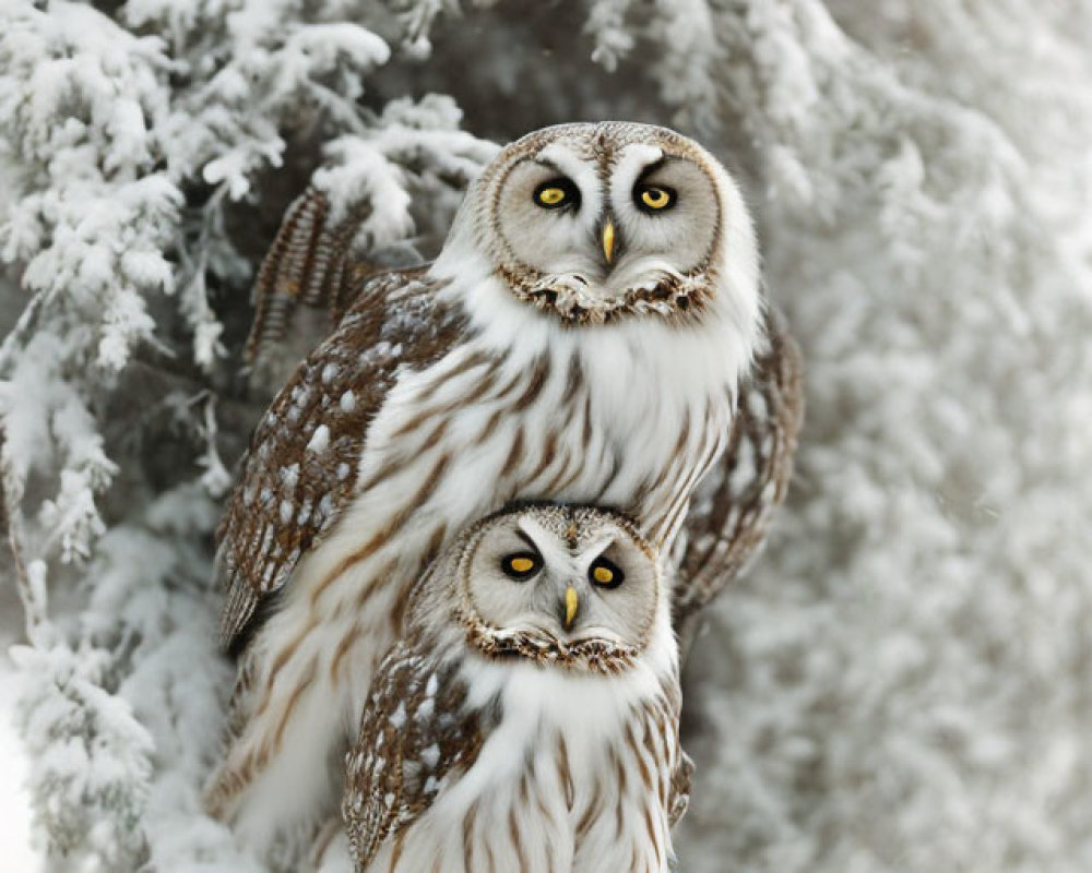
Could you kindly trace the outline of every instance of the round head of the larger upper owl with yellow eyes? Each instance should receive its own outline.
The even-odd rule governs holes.
[[[562,124],[510,144],[467,193],[441,261],[467,247],[518,299],[568,323],[758,310],[739,190],[666,128]]]

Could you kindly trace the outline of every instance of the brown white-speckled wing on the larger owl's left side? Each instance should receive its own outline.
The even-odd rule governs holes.
[[[246,637],[262,600],[337,521],[396,374],[429,366],[462,338],[461,313],[437,290],[424,267],[366,282],[254,429],[217,530],[225,647]]]

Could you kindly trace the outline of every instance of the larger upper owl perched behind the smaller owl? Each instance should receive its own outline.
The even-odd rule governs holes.
[[[364,690],[455,531],[512,501],[595,503],[678,553],[727,449],[740,464],[714,470],[680,560],[729,566],[761,540],[795,436],[743,198],[677,133],[532,133],[470,187],[436,262],[368,282],[307,214],[263,267],[259,326],[276,334],[285,298],[324,298],[337,325],[259,422],[218,530],[239,680],[206,801],[257,845],[335,802]],[[756,356],[773,378],[750,381]],[[757,441],[733,429],[741,382]],[[716,579],[676,598],[680,620]]]

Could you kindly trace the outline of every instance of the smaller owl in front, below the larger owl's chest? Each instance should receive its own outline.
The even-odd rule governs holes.
[[[636,527],[508,509],[411,598],[346,756],[357,873],[666,871],[690,763],[669,586]]]

